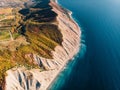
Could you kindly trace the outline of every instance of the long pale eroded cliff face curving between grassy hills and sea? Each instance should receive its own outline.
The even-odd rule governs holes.
[[[50,5],[58,14],[58,26],[63,35],[62,46],[57,46],[55,51],[52,51],[53,59],[33,55],[34,61],[46,71],[40,72],[39,69],[27,70],[25,68],[7,71],[5,90],[46,90],[68,60],[78,52],[81,35],[78,25],[68,15],[70,12],[66,13],[52,0]]]

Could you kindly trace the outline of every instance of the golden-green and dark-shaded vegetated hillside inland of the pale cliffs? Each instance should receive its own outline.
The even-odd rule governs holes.
[[[62,45],[57,14],[48,3],[36,2],[36,6],[20,11],[14,8],[12,13],[0,14],[0,85],[3,84],[5,72],[10,68],[39,68],[33,55],[52,59],[51,51],[57,45]]]

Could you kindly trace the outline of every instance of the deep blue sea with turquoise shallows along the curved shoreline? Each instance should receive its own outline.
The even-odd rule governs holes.
[[[120,0],[59,3],[82,28],[82,46],[50,90],[120,90]]]

